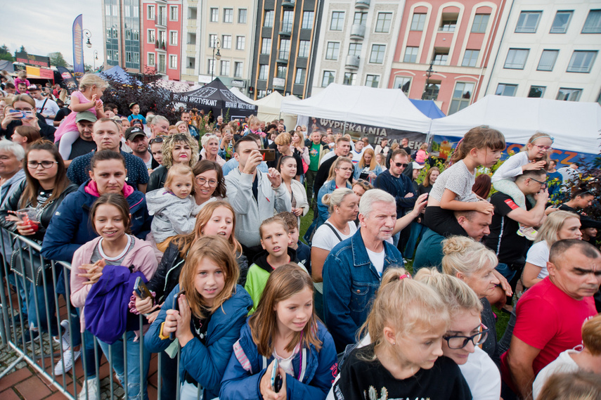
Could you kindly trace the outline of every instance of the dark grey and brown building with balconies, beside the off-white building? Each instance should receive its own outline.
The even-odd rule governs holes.
[[[252,97],[261,98],[272,91],[309,96],[321,1],[258,0],[256,7]]]

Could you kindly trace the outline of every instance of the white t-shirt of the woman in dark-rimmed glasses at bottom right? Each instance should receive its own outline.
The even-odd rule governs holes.
[[[467,363],[459,366],[474,400],[498,400],[500,397],[500,373],[486,351],[475,348],[467,356]]]

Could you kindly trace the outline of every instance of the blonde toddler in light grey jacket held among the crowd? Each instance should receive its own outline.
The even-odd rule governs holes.
[[[164,252],[174,236],[193,231],[195,218],[194,173],[190,167],[174,164],[167,172],[164,188],[146,193],[148,214],[154,215],[151,232],[157,248]]]

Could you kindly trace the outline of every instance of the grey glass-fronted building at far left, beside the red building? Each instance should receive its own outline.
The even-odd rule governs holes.
[[[121,65],[129,72],[141,68],[140,0],[103,0],[105,65]]]

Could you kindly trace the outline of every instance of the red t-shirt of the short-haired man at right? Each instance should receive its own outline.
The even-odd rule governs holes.
[[[513,335],[541,349],[532,363],[534,375],[562,351],[582,343],[582,324],[597,314],[593,297],[576,300],[553,285],[549,277],[527,290],[516,306]],[[501,356],[501,375],[511,385],[507,352]]]

